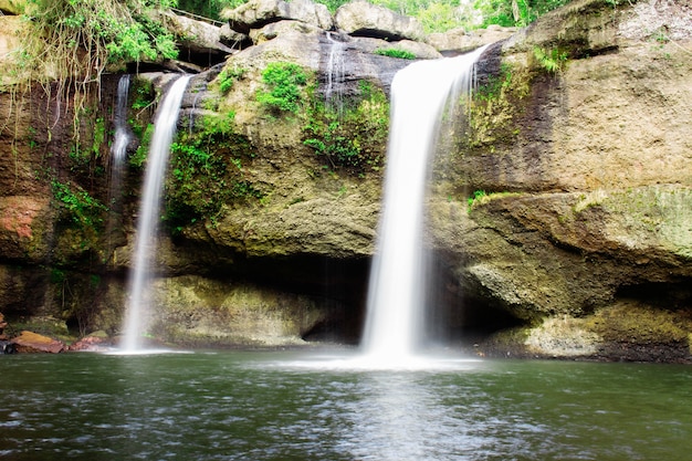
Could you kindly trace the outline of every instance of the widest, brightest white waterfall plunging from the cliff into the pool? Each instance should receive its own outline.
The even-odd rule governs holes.
[[[374,362],[406,363],[424,339],[428,164],[443,109],[448,101],[454,106],[462,91],[471,92],[474,63],[483,50],[416,62],[392,81],[382,213],[361,344]]]

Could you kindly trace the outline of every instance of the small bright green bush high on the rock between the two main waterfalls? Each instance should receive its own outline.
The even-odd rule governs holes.
[[[284,61],[271,62],[262,72],[262,82],[266,90],[258,92],[260,104],[274,114],[298,112],[301,87],[307,83],[307,76],[300,65]]]

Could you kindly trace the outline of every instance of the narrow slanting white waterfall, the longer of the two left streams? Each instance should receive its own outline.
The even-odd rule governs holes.
[[[150,266],[156,255],[156,234],[160,213],[160,198],[168,166],[170,144],[176,133],[178,113],[190,76],[175,81],[164,96],[156,114],[154,135],[147,158],[144,191],[139,202],[137,240],[133,255],[133,270],[128,281],[128,302],[125,312],[123,349],[140,348],[143,333],[147,328],[150,303]]]

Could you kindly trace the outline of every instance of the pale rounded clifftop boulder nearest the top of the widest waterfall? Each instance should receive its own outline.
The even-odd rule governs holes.
[[[340,6],[336,10],[334,22],[339,32],[349,35],[391,41],[423,41],[426,38],[422,24],[417,19],[397,14],[367,0],[354,0]]]

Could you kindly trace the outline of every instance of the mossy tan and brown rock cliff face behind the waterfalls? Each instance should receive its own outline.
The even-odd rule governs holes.
[[[690,13],[688,2],[578,0],[518,31],[426,38],[416,21],[359,1],[333,22],[305,1],[229,11],[247,42],[196,75],[185,97],[180,140],[207,163],[192,171],[172,156],[168,207],[197,214],[162,237],[151,333],[205,346],[356,343],[385,166],[377,119],[410,62],[378,50],[434,59],[497,38],[479,62],[478,96],[431,166],[440,336],[483,355],[689,362]],[[266,104],[276,63],[306,75],[293,112]],[[340,118],[326,118],[327,107]],[[72,327],[115,335],[141,171],[128,170],[132,193],[111,227],[75,227],[35,171],[101,185],[90,190],[104,201],[107,180],[72,172],[57,145],[70,137],[49,136],[40,115],[21,113],[19,137],[0,134],[0,149],[17,153],[0,157],[0,311],[69,312]]]

